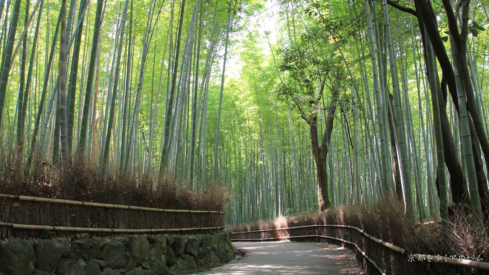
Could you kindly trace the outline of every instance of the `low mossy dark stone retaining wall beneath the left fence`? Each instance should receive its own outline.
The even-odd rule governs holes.
[[[0,275],[153,275],[234,259],[230,233],[27,241],[0,246]]]

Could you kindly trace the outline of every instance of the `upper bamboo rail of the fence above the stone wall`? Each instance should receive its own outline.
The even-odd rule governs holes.
[[[155,212],[224,214],[224,212],[221,211],[211,211],[211,210],[161,209],[161,208],[142,207],[142,206],[99,204],[99,203],[91,203],[91,202],[50,199],[50,198],[40,198],[40,197],[30,197],[30,196],[16,196],[16,195],[6,195],[6,194],[0,194],[0,198],[17,199],[19,201],[27,201],[27,202],[51,203],[51,204],[73,205],[73,206],[93,206],[93,207],[105,207],[105,208],[117,208],[117,209],[132,209],[132,210],[155,211]]]

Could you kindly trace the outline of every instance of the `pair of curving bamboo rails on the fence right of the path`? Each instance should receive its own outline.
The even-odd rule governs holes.
[[[461,258],[454,258],[454,257],[444,257],[440,255],[430,255],[430,254],[422,254],[422,253],[410,253],[406,249],[401,248],[399,246],[393,245],[391,243],[388,243],[386,241],[383,241],[381,239],[378,239],[367,232],[365,232],[362,229],[359,229],[354,226],[347,226],[347,225],[308,225],[308,226],[297,226],[297,227],[286,227],[286,228],[275,228],[275,229],[261,229],[261,230],[250,230],[250,231],[242,231],[242,232],[231,232],[232,235],[237,235],[237,234],[246,234],[246,233],[257,233],[257,232],[269,232],[269,231],[277,231],[277,230],[290,230],[290,229],[304,229],[304,228],[327,228],[327,227],[332,227],[332,228],[348,228],[348,229],[355,229],[358,232],[360,232],[363,236],[369,238],[370,240],[373,240],[374,242],[392,250],[395,252],[398,252],[406,257],[412,257],[412,259],[426,259],[430,262],[436,262],[436,263],[446,263],[446,264],[451,264],[451,265],[458,265],[458,266],[463,266],[463,267],[469,267],[469,268],[476,268],[476,269],[482,269],[482,270],[489,270],[489,262],[483,262],[483,261],[476,261],[476,260],[469,260],[469,259],[461,259]],[[277,240],[277,239],[292,239],[292,238],[314,238],[314,237],[320,237],[320,238],[328,238],[328,239],[333,239],[337,241],[341,241],[344,243],[349,243],[352,244],[356,247],[356,249],[362,253],[362,255],[376,267],[376,269],[379,271],[380,274],[385,274],[377,264],[373,262],[370,258],[366,257],[365,252],[363,252],[355,243],[345,241],[340,238],[335,238],[335,237],[330,237],[330,236],[323,236],[323,235],[301,235],[301,236],[281,236],[281,237],[271,237],[271,238],[246,238],[246,239],[231,239],[231,241],[269,241],[269,240]],[[436,261],[435,261],[436,260]]]

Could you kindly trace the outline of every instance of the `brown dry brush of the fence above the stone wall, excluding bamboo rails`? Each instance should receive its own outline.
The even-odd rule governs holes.
[[[19,153],[19,152],[18,152]],[[163,176],[152,180],[138,173],[111,178],[97,164],[75,157],[65,169],[34,160],[30,170],[12,155],[3,157],[0,168],[0,193],[96,202],[105,204],[145,206],[166,209],[223,211],[227,192],[216,183],[196,193],[184,181]],[[16,205],[16,206],[13,206]],[[222,227],[220,213],[167,213],[143,210],[68,206],[38,202],[0,200],[0,222],[27,225],[48,225],[111,229],[174,229]],[[207,231],[186,231],[210,233]],[[0,238],[39,237],[46,232],[0,228]],[[51,234],[51,232],[49,232]],[[66,237],[73,233],[56,232],[49,237]],[[106,236],[109,233],[93,233]],[[110,235],[110,234],[109,234]]]

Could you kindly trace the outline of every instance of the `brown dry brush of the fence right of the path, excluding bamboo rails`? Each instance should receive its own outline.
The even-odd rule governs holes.
[[[395,200],[381,200],[376,205],[349,205],[328,209],[326,212],[299,215],[292,217],[280,217],[275,220],[262,221],[249,225],[243,225],[229,229],[231,232],[241,232],[258,229],[273,229],[281,227],[296,227],[305,225],[350,225],[365,230],[365,232],[384,241],[407,249],[409,253],[424,253],[431,255],[480,257],[489,259],[489,242],[481,242],[474,238],[475,235],[466,215],[456,212],[451,217],[451,226],[446,232],[441,225],[435,222],[427,222],[424,225],[411,226],[404,215],[402,206]],[[236,239],[270,238],[278,236],[301,235],[325,235],[355,242],[363,251],[371,257],[386,274],[390,275],[462,275],[462,274],[487,274],[484,271],[476,271],[455,265],[439,264],[427,260],[408,262],[408,257],[391,251],[373,241],[365,238],[353,229],[341,228],[304,228],[279,231],[266,231],[256,233],[234,234]],[[293,239],[298,240],[298,239]],[[304,238],[300,241],[324,242],[323,238]],[[338,245],[343,243],[328,240]],[[357,259],[366,268],[367,274],[378,274],[377,270],[366,263],[362,255],[356,252]]]

